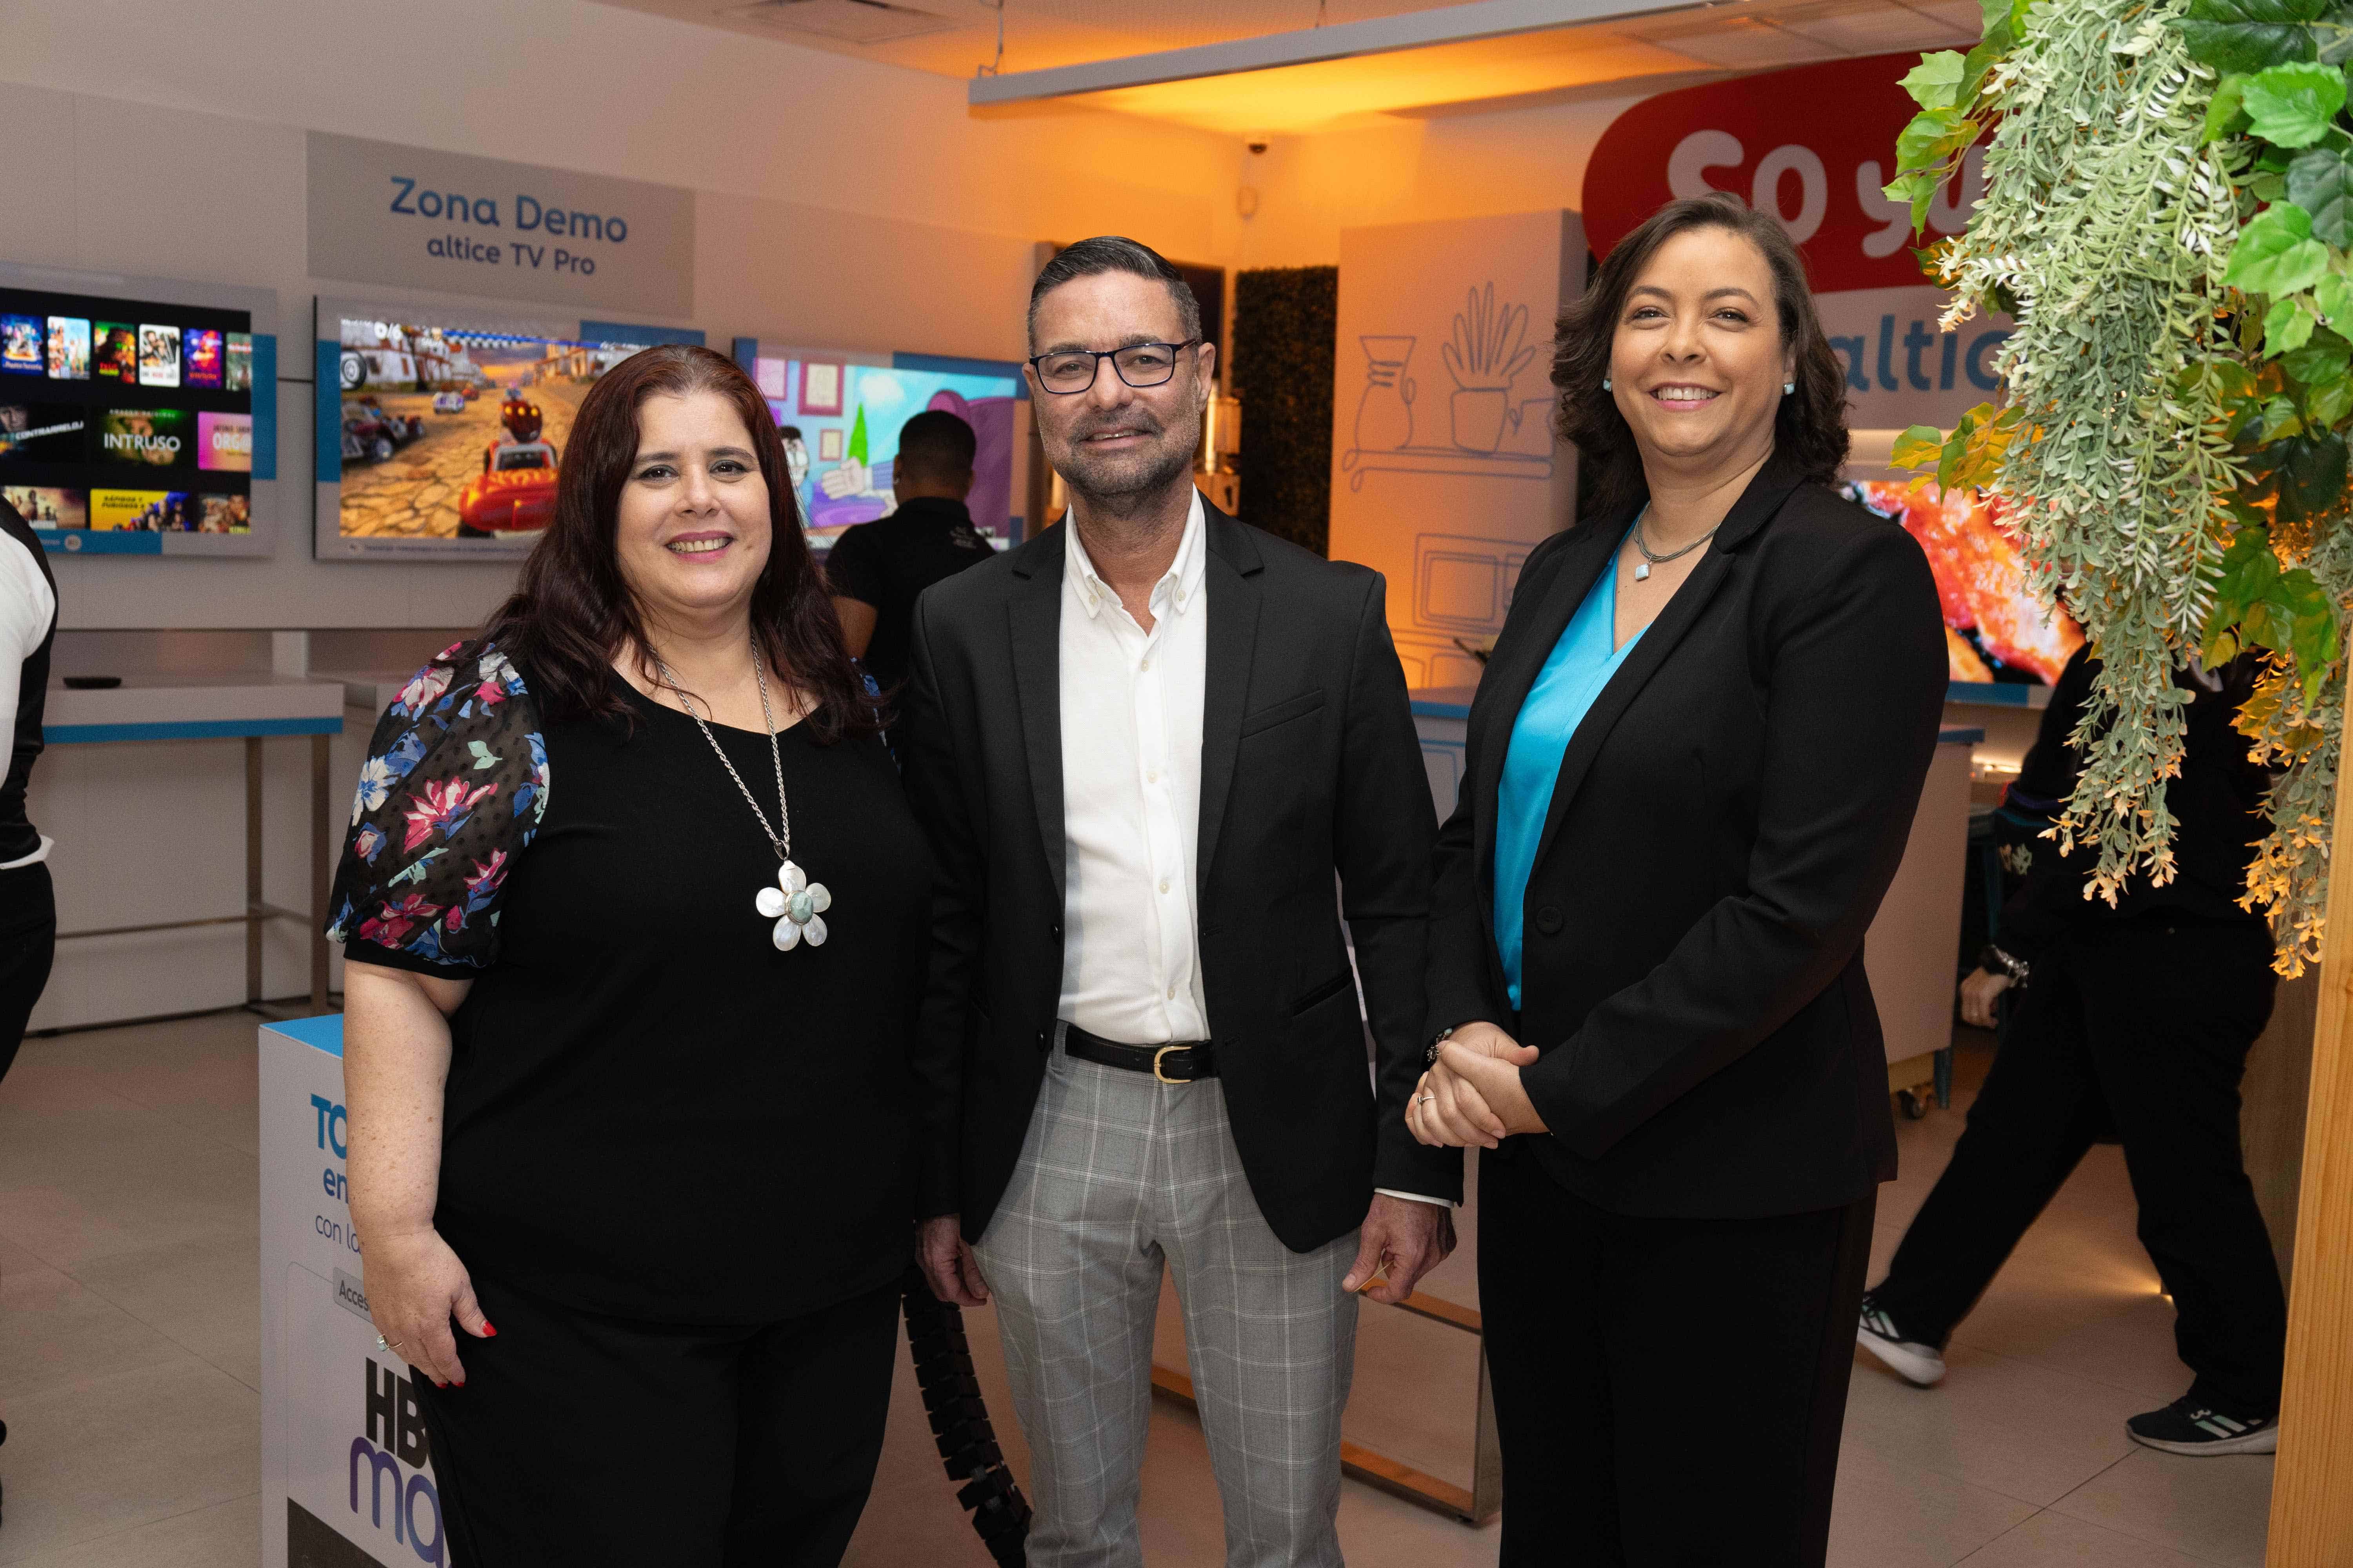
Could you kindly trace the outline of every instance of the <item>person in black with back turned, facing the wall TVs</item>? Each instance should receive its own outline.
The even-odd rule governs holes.
[[[826,555],[842,642],[885,691],[906,682],[915,595],[993,555],[965,510],[976,451],[972,425],[946,409],[925,409],[899,425],[889,470],[896,510],[847,529]]]

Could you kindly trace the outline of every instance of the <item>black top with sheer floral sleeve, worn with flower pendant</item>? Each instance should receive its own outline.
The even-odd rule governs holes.
[[[445,684],[419,675],[376,729],[332,933],[473,980],[449,1018],[449,1246],[664,1321],[772,1321],[892,1279],[932,863],[882,743],[779,738],[793,860],[833,893],[828,940],[779,952],[755,910],[776,856],[692,719],[614,677],[633,731],[541,729],[504,661]],[[713,733],[774,823],[767,738]]]

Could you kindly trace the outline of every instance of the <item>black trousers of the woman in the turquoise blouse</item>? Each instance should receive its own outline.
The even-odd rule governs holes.
[[[1501,1568],[1819,1568],[1878,1194],[1649,1220],[1508,1154],[1478,1175]]]

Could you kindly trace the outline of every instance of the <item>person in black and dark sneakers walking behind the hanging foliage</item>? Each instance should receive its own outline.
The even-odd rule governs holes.
[[[2273,1453],[2287,1298],[2238,1143],[2238,1081],[2271,1020],[2271,929],[2240,907],[2247,863],[2266,832],[2271,771],[2247,755],[2233,719],[2261,661],[2181,670],[2181,773],[2174,879],[2134,879],[2115,905],[2085,898],[2097,853],[2061,856],[2028,837],[2026,879],[2002,905],[1998,943],[1960,983],[1960,1013],[1991,1030],[2014,994],[1969,1128],[1937,1178],[1882,1279],[1857,1342],[1908,1382],[1944,1378],[1944,1345],[1993,1284],[2009,1251],[2113,1128],[2141,1206],[2141,1246],[2174,1300],[2174,1347],[2188,1392],[2125,1422],[2167,1453]],[[2005,797],[2028,832],[2057,820],[2075,790],[2068,745],[2099,661],[2075,651],[2042,710],[2035,745]]]

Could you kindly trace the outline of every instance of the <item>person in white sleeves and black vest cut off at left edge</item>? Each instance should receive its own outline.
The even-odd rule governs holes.
[[[56,578],[49,557],[40,534],[0,501],[0,738],[9,745],[0,778],[0,1077],[16,1060],[56,952],[49,839],[33,827],[24,802],[33,759],[40,757],[54,642]]]

